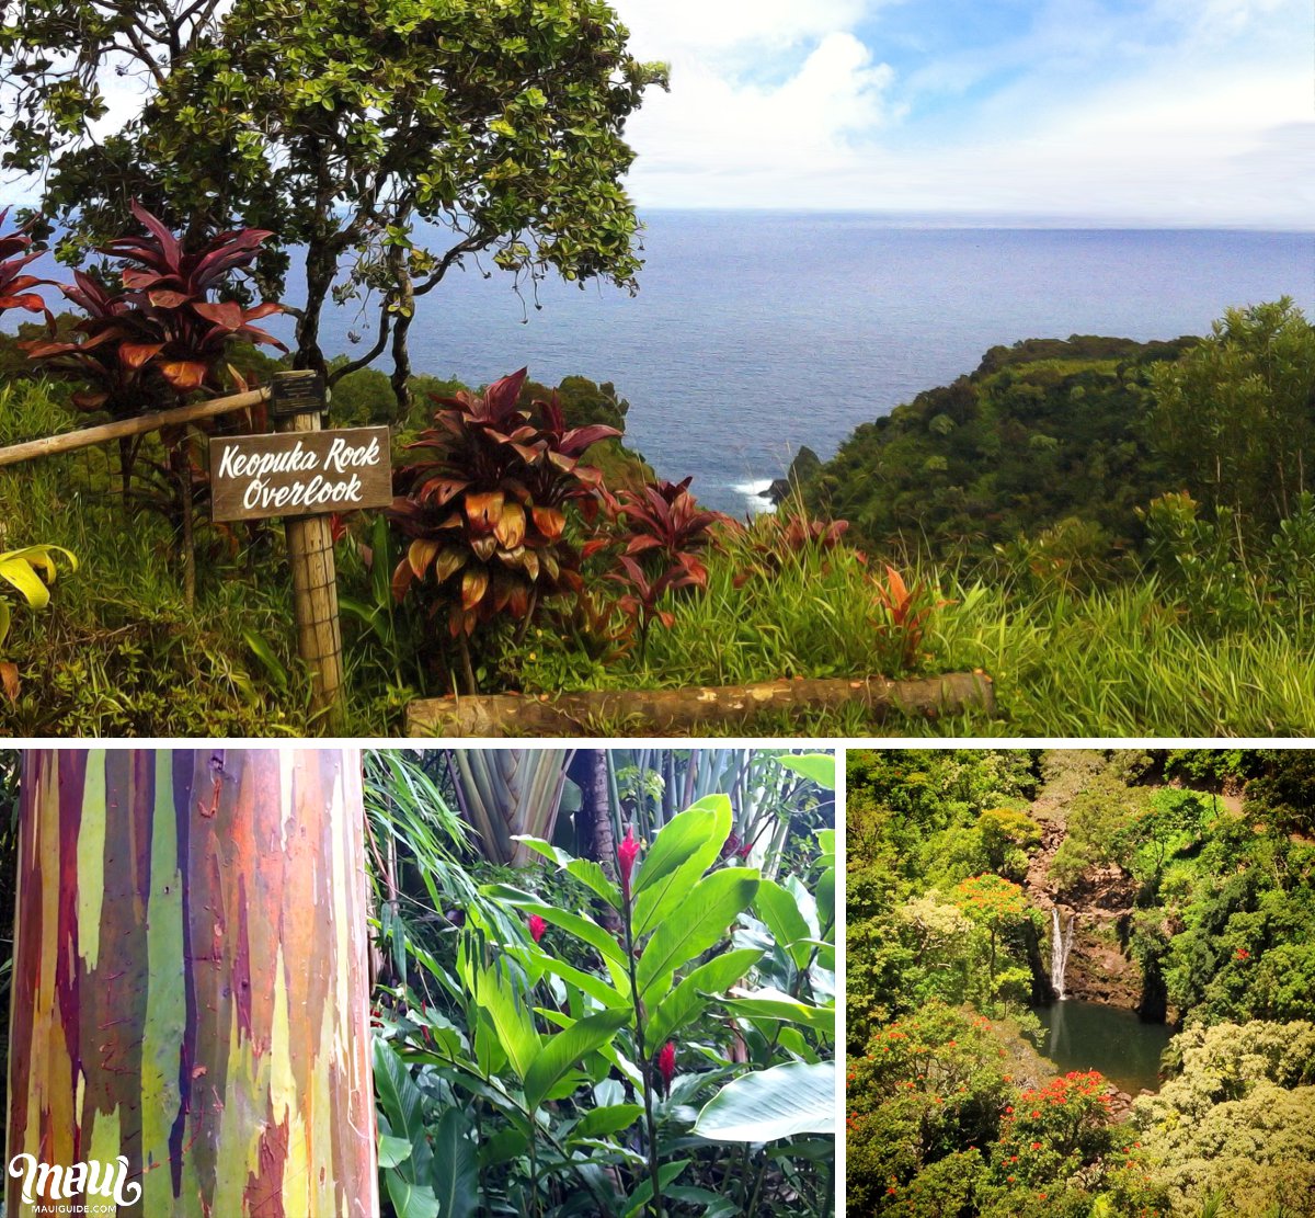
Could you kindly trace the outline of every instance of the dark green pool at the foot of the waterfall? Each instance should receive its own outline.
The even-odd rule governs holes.
[[[1060,1069],[1098,1069],[1119,1090],[1160,1090],[1160,1054],[1172,1033],[1143,1023],[1136,1011],[1066,998],[1035,1008],[1045,1029],[1041,1052]]]

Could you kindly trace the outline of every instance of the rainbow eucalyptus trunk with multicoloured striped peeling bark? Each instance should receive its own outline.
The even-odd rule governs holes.
[[[21,814],[7,1161],[120,1218],[373,1218],[359,755],[32,750]]]

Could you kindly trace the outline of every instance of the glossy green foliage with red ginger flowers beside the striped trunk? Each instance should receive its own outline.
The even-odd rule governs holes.
[[[393,1213],[830,1213],[834,829],[826,792],[785,767],[830,783],[831,759],[752,759],[796,791],[776,814],[805,818],[777,879],[735,848],[734,792],[643,839],[610,801],[610,858],[518,835],[538,865],[490,869],[447,812],[469,802],[454,762],[381,754],[367,773],[388,843],[375,1068]],[[700,754],[652,762],[660,805]]]

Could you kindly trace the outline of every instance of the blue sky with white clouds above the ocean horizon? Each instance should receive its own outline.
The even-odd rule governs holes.
[[[613,0],[644,208],[1315,226],[1310,0]]]

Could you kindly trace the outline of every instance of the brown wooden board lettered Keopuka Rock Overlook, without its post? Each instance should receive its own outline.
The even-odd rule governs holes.
[[[210,441],[210,518],[325,516],[393,501],[388,427]]]

